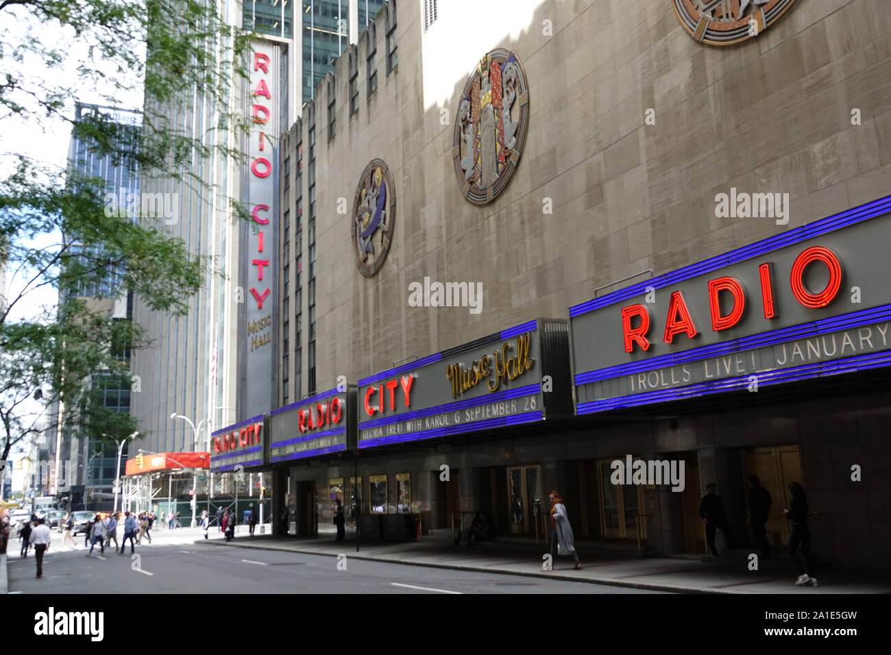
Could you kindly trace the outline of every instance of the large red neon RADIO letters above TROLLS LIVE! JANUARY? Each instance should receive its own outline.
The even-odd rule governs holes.
[[[822,291],[814,293],[805,286],[805,269],[815,263],[822,263],[829,268],[829,282]],[[764,263],[758,266],[758,277],[761,286],[761,310],[765,319],[778,316],[773,301],[774,281],[773,266]],[[838,295],[842,283],[842,266],[838,256],[829,248],[813,246],[804,250],[795,259],[792,271],[789,275],[789,286],[792,295],[804,307],[819,308],[828,306]],[[723,313],[721,295],[732,300],[732,309]],[[727,330],[740,322],[746,311],[746,291],[742,283],[735,277],[723,275],[708,281],[708,306],[711,313],[712,330],[719,332]],[[642,350],[649,350],[650,346],[650,309],[642,304],[622,307],[622,335],[625,341],[625,352],[634,352],[637,346]],[[662,340],[666,343],[674,343],[674,337],[686,334],[693,339],[699,334],[687,302],[682,291],[674,291],[668,302],[666,312],[665,330]]]

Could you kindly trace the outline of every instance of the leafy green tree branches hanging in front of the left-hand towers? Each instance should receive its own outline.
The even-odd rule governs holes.
[[[0,130],[68,122],[97,156],[143,179],[172,178],[192,188],[207,184],[193,173],[200,161],[241,156],[221,135],[246,127],[231,99],[247,78],[249,35],[226,24],[216,3],[0,0],[0,25],[15,26],[0,30]],[[53,33],[62,38],[45,37]],[[79,83],[110,105],[142,92],[142,128],[127,129],[100,111],[75,120],[78,86],[53,79],[53,71],[72,63]],[[214,134],[191,135],[168,115],[173,103],[188,106],[196,98],[214,109]],[[101,178],[66,174],[22,152],[3,159],[0,267],[22,283],[0,306],[0,467],[14,444],[54,435],[60,422],[94,437],[126,437],[132,419],[102,407],[96,376],[128,381],[124,351],[145,344],[139,327],[114,318],[110,305],[135,293],[151,309],[182,315],[212,266],[169,238],[157,212],[135,220],[132,212],[110,210]],[[237,202],[230,204],[245,217]],[[59,291],[58,307],[13,320],[44,287]],[[48,406],[60,411],[47,415]]]

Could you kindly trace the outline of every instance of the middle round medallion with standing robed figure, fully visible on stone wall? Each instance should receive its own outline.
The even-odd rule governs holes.
[[[454,122],[454,172],[467,200],[485,205],[504,190],[528,127],[526,71],[510,50],[493,50],[470,74]]]

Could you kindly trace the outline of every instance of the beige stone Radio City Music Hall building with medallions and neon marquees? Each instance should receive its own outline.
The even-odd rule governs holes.
[[[822,561],[887,568],[891,20],[744,5],[386,4],[282,135],[277,409],[213,466],[299,536],[535,536],[557,488],[650,553],[706,552],[713,481],[748,544],[749,475],[785,544],[798,481]]]

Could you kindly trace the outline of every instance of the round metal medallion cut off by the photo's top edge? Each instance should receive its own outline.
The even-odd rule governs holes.
[[[756,37],[795,0],[671,0],[691,37],[708,45],[731,45]]]

